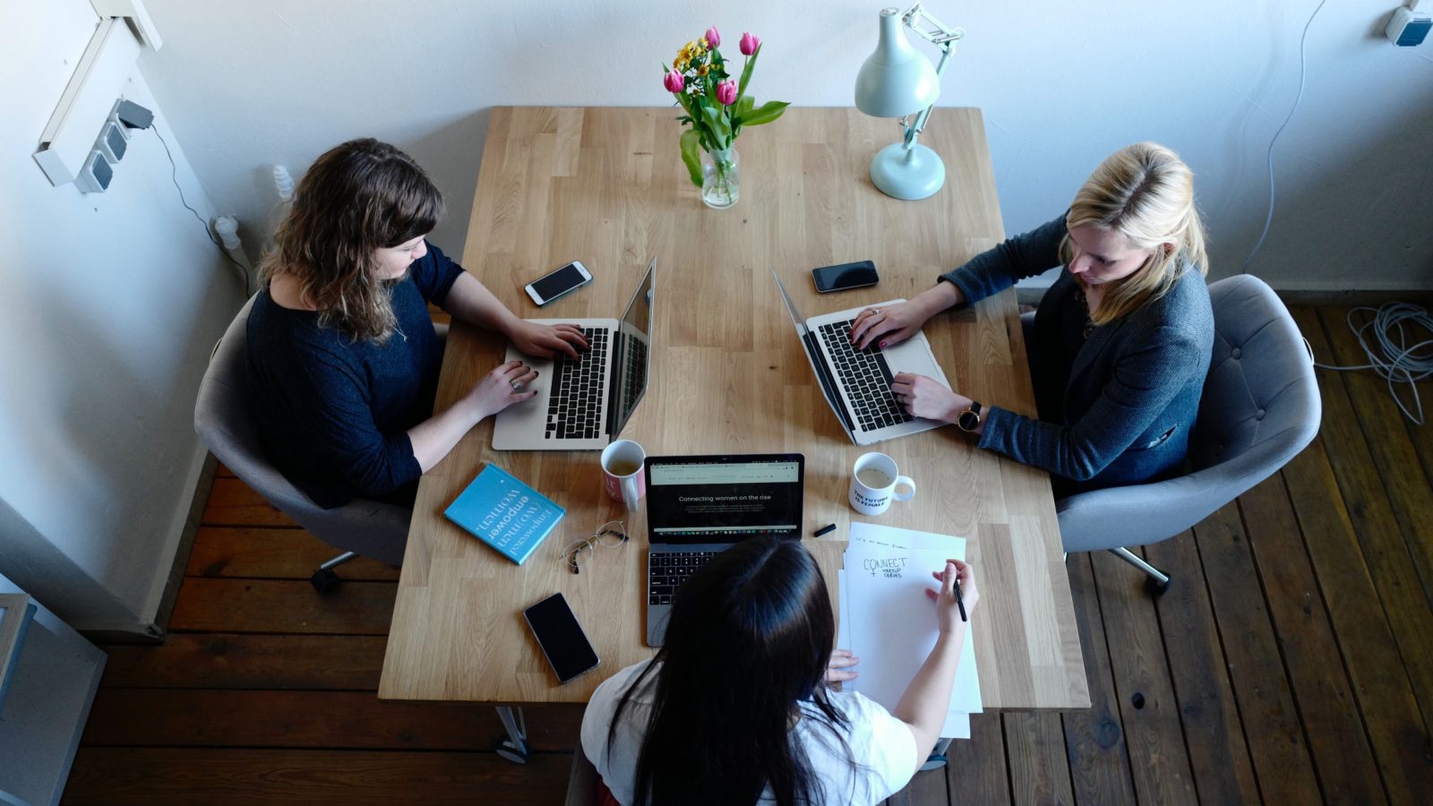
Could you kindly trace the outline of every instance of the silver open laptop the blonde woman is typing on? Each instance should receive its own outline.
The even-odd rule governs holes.
[[[787,313],[797,326],[797,336],[801,337],[801,349],[805,350],[811,369],[821,383],[821,393],[831,404],[835,417],[841,420],[841,427],[856,445],[873,445],[897,436],[906,436],[943,426],[936,420],[913,417],[906,407],[891,394],[891,379],[897,373],[913,373],[930,376],[946,389],[950,381],[940,370],[936,356],[930,351],[930,341],[924,333],[916,333],[900,344],[880,349],[871,344],[866,350],[857,350],[851,344],[851,321],[867,308],[894,305],[906,300],[890,300],[874,305],[861,305],[834,314],[821,314],[802,318],[795,303],[787,294],[787,287],[777,277],[775,267],[771,275],[777,280],[781,300],[787,304]]]

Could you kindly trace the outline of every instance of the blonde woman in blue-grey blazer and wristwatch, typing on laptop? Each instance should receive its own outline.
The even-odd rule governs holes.
[[[916,298],[866,310],[853,341],[894,344],[930,317],[1063,265],[1026,328],[1040,419],[901,373],[919,417],[1042,468],[1056,495],[1178,475],[1214,349],[1208,258],[1194,175],[1172,151],[1135,143],[1105,159],[1069,211],[940,275]]]

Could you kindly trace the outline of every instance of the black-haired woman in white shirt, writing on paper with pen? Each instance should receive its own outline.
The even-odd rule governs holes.
[[[582,749],[613,797],[633,806],[877,803],[936,746],[964,641],[970,566],[931,572],[939,638],[894,713],[858,693],[857,658],[831,651],[835,621],[815,558],[798,542],[749,539],[676,592],[666,644],[602,683]]]

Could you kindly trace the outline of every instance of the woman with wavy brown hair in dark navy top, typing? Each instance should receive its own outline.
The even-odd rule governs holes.
[[[443,344],[428,303],[529,356],[576,359],[588,347],[575,326],[517,318],[430,245],[441,215],[443,196],[411,156],[350,141],[304,175],[259,268],[249,403],[269,459],[320,506],[411,506],[418,476],[469,429],[536,394],[537,373],[509,361],[433,414]]]

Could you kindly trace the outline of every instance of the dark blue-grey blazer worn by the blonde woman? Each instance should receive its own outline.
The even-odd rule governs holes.
[[[969,303],[1060,264],[1065,217],[941,274]],[[1181,472],[1214,350],[1209,290],[1194,268],[1164,297],[1096,327],[1066,270],[1035,314],[1030,373],[1040,419],[990,406],[980,447],[1069,479],[1056,495]]]

